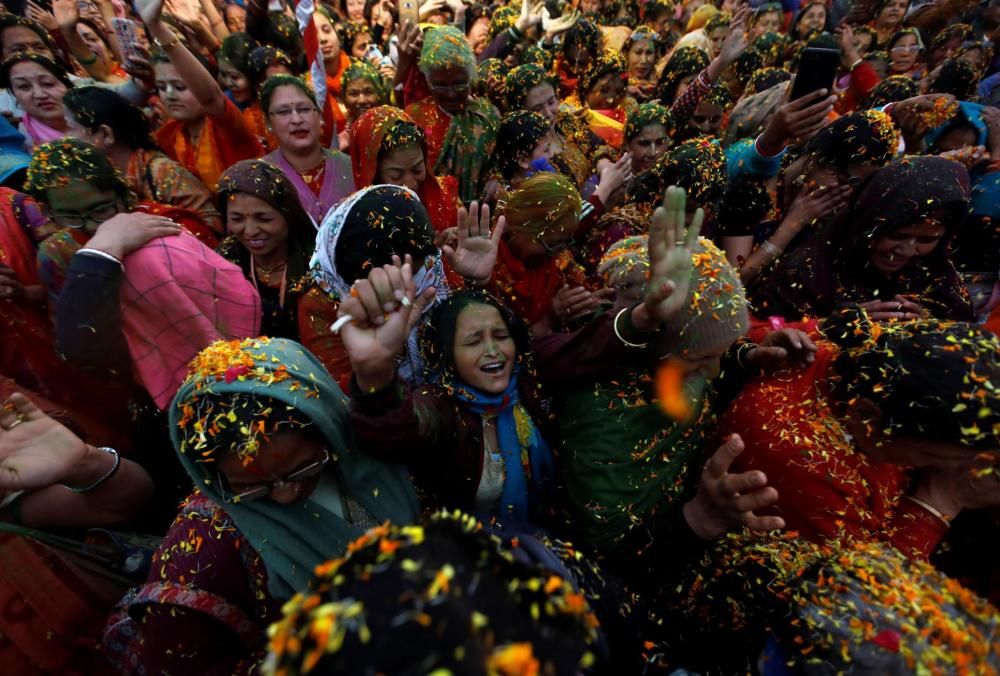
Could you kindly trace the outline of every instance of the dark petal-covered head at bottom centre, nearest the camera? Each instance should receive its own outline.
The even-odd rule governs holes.
[[[585,593],[539,566],[531,540],[504,545],[459,512],[375,528],[285,605],[263,672],[596,673]]]

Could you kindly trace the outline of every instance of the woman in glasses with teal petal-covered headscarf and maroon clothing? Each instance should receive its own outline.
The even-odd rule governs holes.
[[[372,526],[415,521],[416,495],[401,467],[353,450],[347,398],[298,343],[210,345],[169,415],[198,492],[105,647],[127,673],[248,673],[313,569]]]

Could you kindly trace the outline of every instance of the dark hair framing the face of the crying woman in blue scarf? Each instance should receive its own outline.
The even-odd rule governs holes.
[[[433,380],[446,387],[457,385],[455,373],[455,331],[458,316],[473,305],[488,305],[496,308],[500,318],[507,325],[514,347],[515,360],[520,369],[531,370],[531,334],[528,326],[517,313],[503,301],[482,289],[463,289],[449,296],[432,311],[430,321],[421,333],[421,346],[428,373]]]

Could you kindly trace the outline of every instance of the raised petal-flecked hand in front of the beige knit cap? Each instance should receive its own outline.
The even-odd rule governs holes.
[[[677,313],[687,302],[691,287],[691,255],[705,212],[695,212],[691,227],[685,229],[687,195],[683,188],[670,186],[663,206],[653,214],[649,229],[649,287],[640,308],[645,317],[633,313],[637,328],[656,328]],[[637,308],[638,309],[638,308]],[[647,325],[648,326],[644,326]]]

